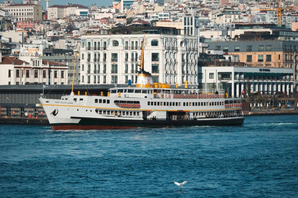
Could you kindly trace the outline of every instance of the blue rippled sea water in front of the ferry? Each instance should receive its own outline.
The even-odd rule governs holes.
[[[0,129],[0,197],[297,197],[297,165],[298,115],[243,126]]]

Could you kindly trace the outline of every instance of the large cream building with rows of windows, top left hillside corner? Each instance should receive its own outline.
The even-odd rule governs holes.
[[[16,21],[34,20],[42,21],[42,6],[37,4],[11,4],[3,8],[10,15],[16,18]]]

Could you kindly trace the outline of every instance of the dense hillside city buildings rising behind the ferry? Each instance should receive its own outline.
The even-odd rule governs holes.
[[[0,3],[0,85],[135,85],[145,36],[154,83],[295,98],[296,0],[45,3]]]

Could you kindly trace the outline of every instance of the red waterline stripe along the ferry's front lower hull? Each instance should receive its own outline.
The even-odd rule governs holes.
[[[135,129],[136,126],[100,126],[100,125],[60,125],[52,126],[53,130],[77,130],[77,129]]]

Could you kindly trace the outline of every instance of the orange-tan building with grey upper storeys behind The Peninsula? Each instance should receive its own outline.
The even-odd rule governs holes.
[[[298,84],[297,41],[236,41],[210,42],[208,50],[220,50],[225,55],[238,56],[238,60],[252,67],[291,68],[294,84]],[[229,60],[232,61],[232,60]]]

